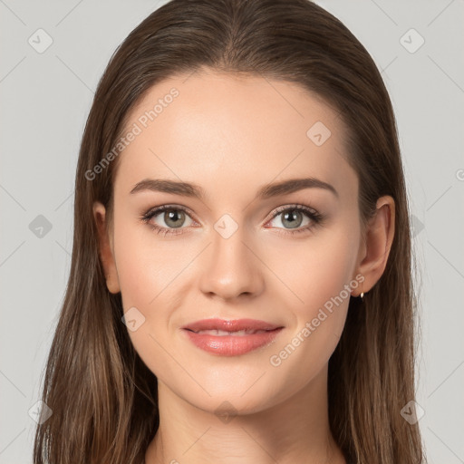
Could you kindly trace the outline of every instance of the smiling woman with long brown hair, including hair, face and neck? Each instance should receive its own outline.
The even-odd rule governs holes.
[[[160,7],[102,76],[75,192],[34,463],[424,462],[394,115],[333,15]]]

